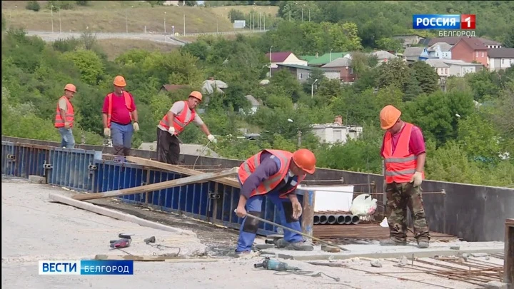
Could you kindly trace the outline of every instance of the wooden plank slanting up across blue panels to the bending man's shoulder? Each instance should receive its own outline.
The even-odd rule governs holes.
[[[133,195],[135,193],[144,193],[151,191],[160,191],[165,188],[173,188],[178,186],[185,186],[191,183],[204,183],[206,181],[213,181],[218,178],[223,178],[226,176],[236,175],[239,171],[239,168],[231,168],[230,170],[221,171],[218,173],[202,173],[197,176],[188,176],[186,178],[176,178],[175,180],[165,181],[161,183],[153,183],[151,185],[146,186],[138,186],[134,188],[124,188],[121,190],[114,190],[104,193],[88,193],[88,194],[79,194],[73,196],[75,200],[86,201],[86,200],[94,200],[97,198],[112,198],[126,195]]]

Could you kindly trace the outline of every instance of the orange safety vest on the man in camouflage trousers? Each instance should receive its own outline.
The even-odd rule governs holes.
[[[405,123],[393,153],[393,139],[389,131],[385,132],[383,158],[385,164],[386,183],[408,183],[413,178],[418,166],[418,156],[409,153],[410,132],[413,124]],[[422,172],[425,179],[425,172]]]

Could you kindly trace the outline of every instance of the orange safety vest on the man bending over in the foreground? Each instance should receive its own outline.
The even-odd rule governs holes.
[[[291,158],[293,158],[293,153],[288,151],[281,150],[264,150],[268,153],[271,153],[272,158],[278,158],[281,163],[281,167],[276,174],[270,176],[267,180],[264,180],[255,190],[253,190],[250,196],[263,195],[272,191],[278,184],[286,177],[289,171],[289,163],[291,163]],[[239,180],[241,183],[244,183],[246,179],[256,170],[256,168],[261,164],[261,154],[264,152],[261,151],[254,156],[251,156],[246,161],[241,163],[239,166]],[[286,193],[281,193],[280,198],[287,198],[287,194],[296,190],[298,183],[301,183],[306,176],[298,176],[298,181],[295,185],[291,184],[293,188],[287,191]]]

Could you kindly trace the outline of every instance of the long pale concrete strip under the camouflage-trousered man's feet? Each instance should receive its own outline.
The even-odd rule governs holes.
[[[459,246],[459,250],[450,249],[450,247]],[[343,260],[355,257],[366,258],[401,258],[403,255],[411,257],[435,257],[435,255],[448,256],[458,255],[460,253],[503,253],[503,242],[434,242],[430,243],[430,247],[419,249],[415,243],[405,246],[383,247],[377,243],[371,245],[344,245],[349,251],[341,251],[339,253],[330,253],[321,250],[321,246],[315,246],[313,251],[293,251],[281,250],[277,248],[268,248],[266,253],[275,254],[279,258],[291,260]]]

